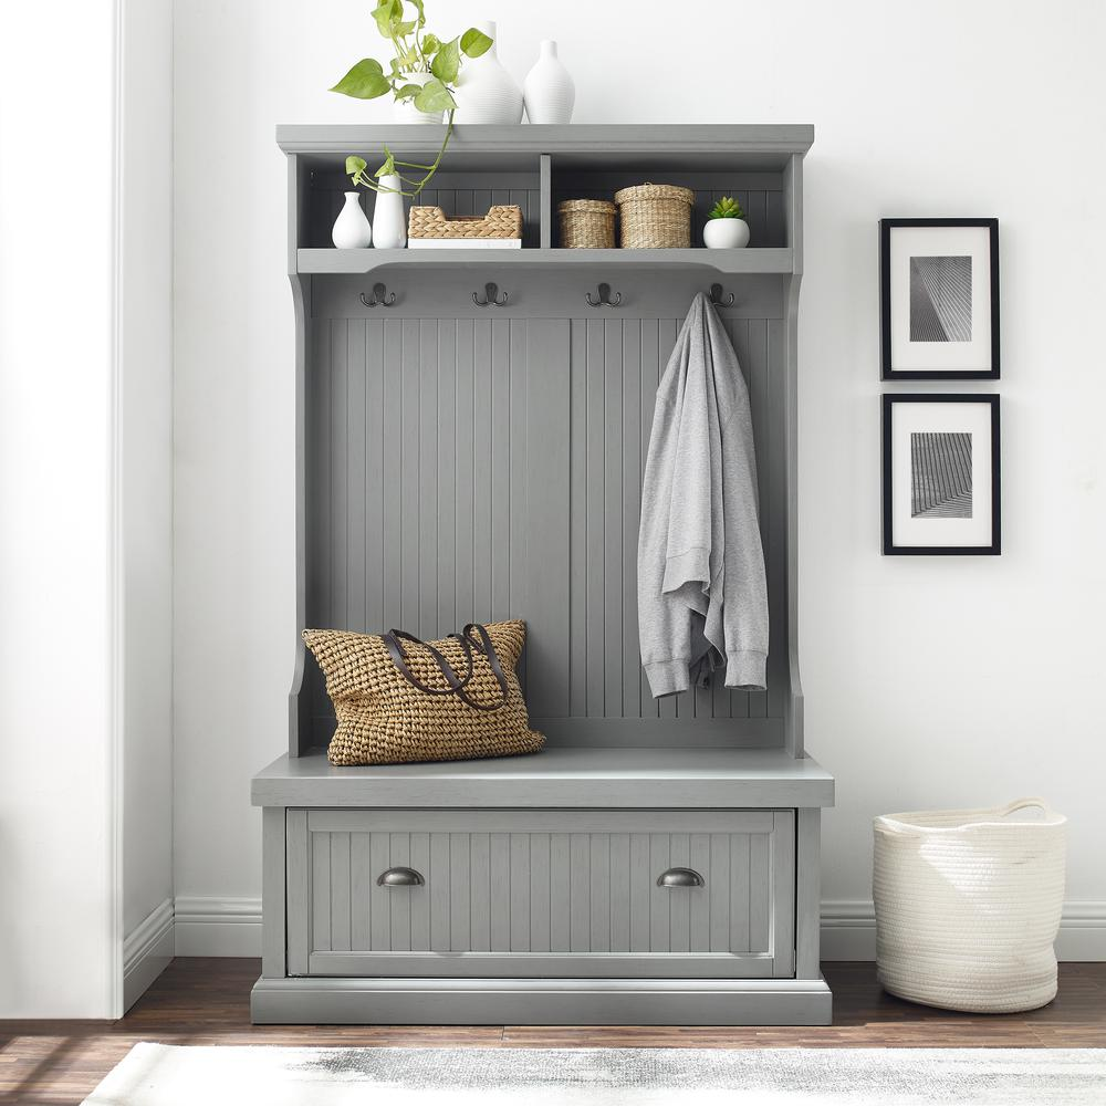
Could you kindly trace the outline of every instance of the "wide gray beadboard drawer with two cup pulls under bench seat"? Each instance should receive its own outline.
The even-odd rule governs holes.
[[[289,810],[286,855],[290,975],[794,974],[790,810]]]

